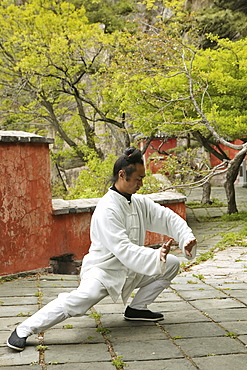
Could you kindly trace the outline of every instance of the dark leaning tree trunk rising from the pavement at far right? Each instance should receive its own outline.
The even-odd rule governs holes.
[[[240,151],[236,156],[229,162],[229,168],[226,172],[226,181],[224,183],[224,188],[226,191],[227,199],[227,213],[230,215],[232,213],[237,213],[237,204],[235,197],[235,187],[234,182],[237,178],[239,168],[243,159],[245,158],[246,151]]]

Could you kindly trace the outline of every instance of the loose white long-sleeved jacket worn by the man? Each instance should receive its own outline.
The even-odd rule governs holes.
[[[120,293],[124,303],[143,275],[163,274],[160,249],[144,247],[146,231],[167,235],[184,246],[194,235],[187,223],[169,208],[147,196],[134,194],[131,203],[114,190],[100,199],[91,220],[91,246],[82,263],[81,277],[96,278],[113,301]]]

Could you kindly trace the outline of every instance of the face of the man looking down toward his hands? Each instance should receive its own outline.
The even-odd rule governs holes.
[[[142,164],[137,163],[134,171],[128,178],[124,170],[119,171],[119,179],[115,186],[121,193],[135,194],[142,187],[142,180],[145,177],[145,168]]]

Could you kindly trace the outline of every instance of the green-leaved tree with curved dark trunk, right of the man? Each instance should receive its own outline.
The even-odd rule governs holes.
[[[234,213],[234,181],[247,152],[247,39],[211,37],[217,48],[202,50],[192,31],[186,38],[181,34],[174,18],[146,33],[122,35],[112,62],[111,102],[128,114],[136,133],[190,133],[225,161],[228,213]],[[241,145],[232,143],[237,138]],[[236,156],[230,159],[220,144]]]

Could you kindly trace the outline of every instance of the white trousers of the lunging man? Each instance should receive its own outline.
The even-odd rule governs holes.
[[[167,256],[164,275],[143,276],[136,286],[139,288],[132,302],[131,308],[145,310],[147,305],[166,288],[179,271],[179,260],[173,255]],[[60,293],[46,306],[26,319],[17,327],[19,337],[28,337],[40,333],[63,320],[84,315],[92,306],[108,295],[104,285],[97,279],[83,279],[79,287],[70,293]]]

